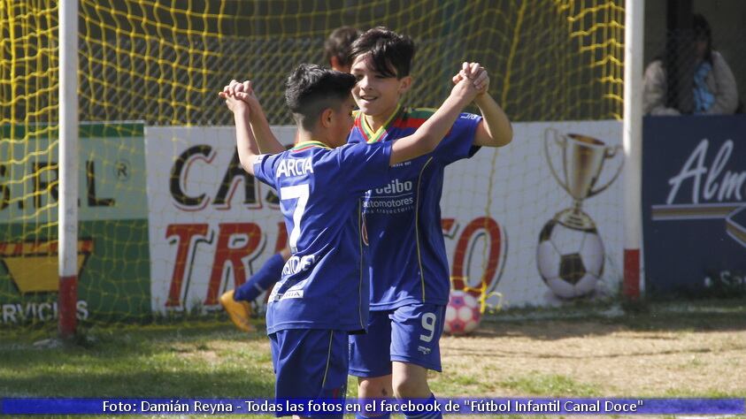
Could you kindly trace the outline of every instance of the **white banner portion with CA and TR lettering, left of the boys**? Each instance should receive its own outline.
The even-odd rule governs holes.
[[[275,128],[292,143],[295,128]],[[148,127],[151,307],[216,309],[285,247],[277,195],[243,170],[233,127]]]

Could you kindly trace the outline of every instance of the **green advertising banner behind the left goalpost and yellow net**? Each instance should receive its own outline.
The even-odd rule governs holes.
[[[2,324],[58,316],[58,140],[46,126],[3,126],[0,156]],[[142,124],[80,128],[77,314],[150,316]]]

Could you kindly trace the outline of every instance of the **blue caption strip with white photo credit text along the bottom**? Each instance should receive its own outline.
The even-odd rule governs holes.
[[[0,399],[0,415],[743,415],[744,399]]]

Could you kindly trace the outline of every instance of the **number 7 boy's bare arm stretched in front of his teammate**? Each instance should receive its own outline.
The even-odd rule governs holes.
[[[394,141],[389,163],[394,165],[432,152],[456,122],[461,110],[473,101],[477,93],[473,80],[463,78],[458,81],[432,117],[411,135]]]

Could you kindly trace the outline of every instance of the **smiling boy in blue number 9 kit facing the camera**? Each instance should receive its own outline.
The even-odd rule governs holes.
[[[432,110],[400,104],[411,87],[410,38],[376,27],[356,40],[351,54],[351,72],[358,80],[352,95],[360,112],[350,143],[396,141],[432,118]],[[387,187],[365,196],[371,316],[367,334],[350,336],[350,374],[358,376],[360,398],[435,397],[427,369],[441,370],[439,339],[450,293],[439,205],[443,170],[473,156],[480,146],[500,147],[512,137],[509,119],[487,93],[487,72],[464,63],[453,81],[464,77],[477,80],[480,93],[474,102],[481,116],[462,114],[433,153],[392,167]]]

